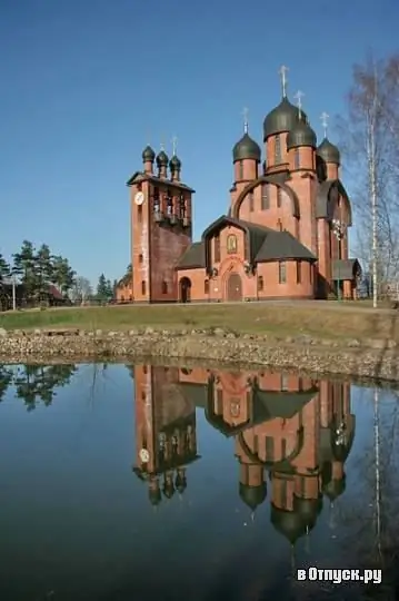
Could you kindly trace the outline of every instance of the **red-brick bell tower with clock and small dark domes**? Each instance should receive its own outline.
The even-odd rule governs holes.
[[[133,300],[177,302],[176,266],[192,242],[194,190],[181,180],[177,138],[173,138],[170,160],[163,147],[156,156],[147,146],[142,162],[142,171],[137,171],[127,183],[131,205]]]

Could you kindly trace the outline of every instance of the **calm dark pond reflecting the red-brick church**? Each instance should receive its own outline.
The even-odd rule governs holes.
[[[390,599],[398,406],[266,370],[2,365],[0,599]]]

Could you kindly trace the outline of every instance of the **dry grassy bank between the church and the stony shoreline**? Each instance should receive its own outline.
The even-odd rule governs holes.
[[[333,339],[369,337],[399,342],[398,312],[337,303],[73,307],[0,314],[0,327],[6,329],[142,326],[162,329],[219,326],[276,336],[303,333]]]

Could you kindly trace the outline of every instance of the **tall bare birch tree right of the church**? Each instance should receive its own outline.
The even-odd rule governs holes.
[[[347,101],[339,129],[353,178],[355,250],[377,295],[377,283],[399,277],[399,53],[356,65]]]

